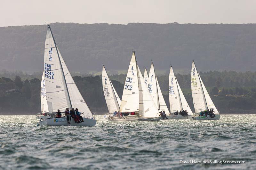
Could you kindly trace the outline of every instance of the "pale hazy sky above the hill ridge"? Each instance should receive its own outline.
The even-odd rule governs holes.
[[[256,23],[256,0],[1,0],[0,26],[49,22]]]

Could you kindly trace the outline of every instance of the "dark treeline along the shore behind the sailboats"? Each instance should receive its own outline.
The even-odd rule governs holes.
[[[39,113],[41,79],[38,77],[41,77],[42,73],[28,75],[19,72],[19,76],[15,77],[15,72],[0,73],[3,73],[0,74],[1,112]],[[256,109],[256,72],[209,71],[200,72],[200,75],[213,102],[221,112],[251,113]],[[122,98],[125,76],[124,74],[110,76],[120,98]],[[176,77],[193,110],[190,74],[176,74]],[[73,78],[92,112],[108,112],[102,91],[101,76],[74,76]],[[160,75],[157,78],[169,108],[169,76]]]

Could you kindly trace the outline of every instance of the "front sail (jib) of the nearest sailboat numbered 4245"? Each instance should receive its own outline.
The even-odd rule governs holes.
[[[72,75],[70,74],[70,72],[68,70],[66,63],[64,62],[64,60],[60,54],[60,50],[58,47],[57,47],[57,49],[59,51],[60,62],[62,64],[63,73],[65,75],[65,79],[66,79],[66,83],[67,83],[67,87],[68,87],[68,93],[69,93],[72,107],[74,107],[75,109],[78,108],[79,112],[84,113],[84,117],[92,118],[91,110],[89,109],[83,96],[79,92],[79,90],[76,86],[76,83],[74,82]]]

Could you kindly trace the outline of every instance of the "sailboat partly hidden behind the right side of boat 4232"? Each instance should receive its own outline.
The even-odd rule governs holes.
[[[156,73],[154,68],[154,63],[152,62],[150,70],[149,70],[149,76],[148,76],[148,91],[151,94],[159,112],[165,111],[165,114],[167,116],[170,116],[170,112],[166,106],[166,103],[164,101],[163,94],[161,92]]]

